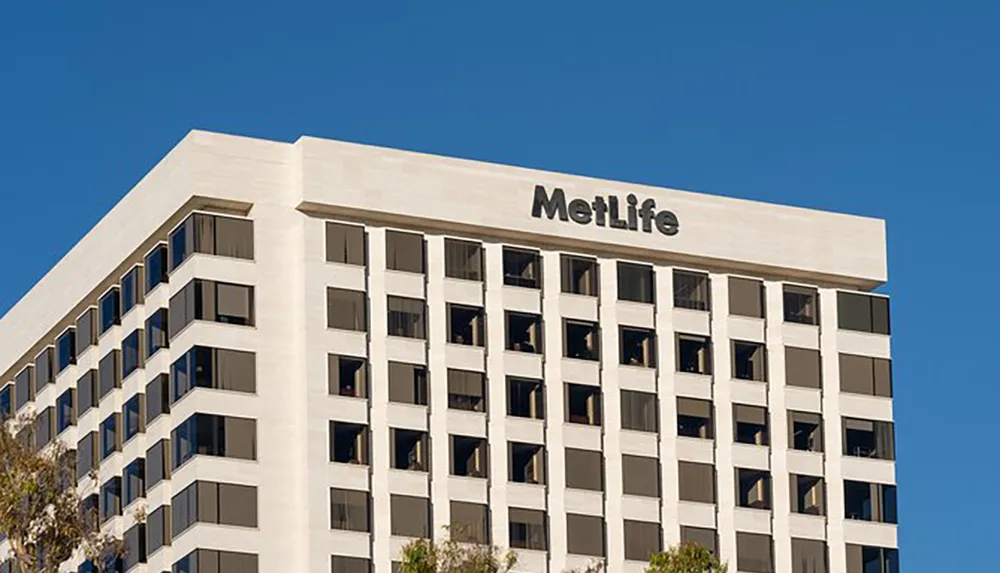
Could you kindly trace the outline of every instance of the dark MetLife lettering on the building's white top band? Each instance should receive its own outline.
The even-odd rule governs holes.
[[[572,220],[580,225],[593,223],[598,227],[627,231],[638,231],[641,228],[644,233],[652,233],[653,227],[656,227],[657,231],[667,236],[676,235],[680,231],[677,215],[667,210],[657,211],[654,199],[646,199],[640,205],[639,199],[629,193],[625,197],[624,218],[621,217],[621,209],[620,201],[615,195],[608,195],[607,199],[597,196],[593,201],[571,199],[567,203],[566,193],[562,189],[555,187],[549,194],[544,186],[535,185],[531,216],[536,219],[545,216],[549,220],[558,217],[560,221]]]

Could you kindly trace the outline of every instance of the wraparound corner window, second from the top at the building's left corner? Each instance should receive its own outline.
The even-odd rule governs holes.
[[[195,320],[254,325],[252,286],[194,279],[170,299],[170,338]]]

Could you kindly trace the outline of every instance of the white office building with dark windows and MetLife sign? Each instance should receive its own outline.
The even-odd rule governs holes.
[[[0,408],[131,571],[897,573],[886,278],[878,220],[192,132],[0,321]]]

